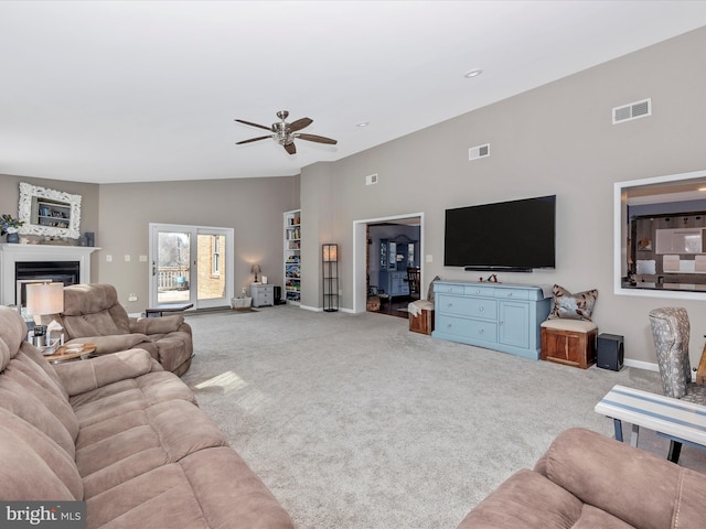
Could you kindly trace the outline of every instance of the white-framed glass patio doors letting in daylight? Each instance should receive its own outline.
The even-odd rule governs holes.
[[[227,306],[233,262],[233,228],[150,224],[150,306]]]

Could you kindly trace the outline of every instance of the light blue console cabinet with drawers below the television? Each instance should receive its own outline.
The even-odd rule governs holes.
[[[552,299],[542,287],[474,281],[435,281],[435,331],[450,342],[539,359],[539,324]]]

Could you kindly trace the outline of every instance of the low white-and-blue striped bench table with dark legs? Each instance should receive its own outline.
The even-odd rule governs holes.
[[[622,441],[622,421],[632,424],[630,444],[638,445],[640,427],[670,440],[667,458],[677,463],[683,444],[706,449],[706,407],[625,386],[613,386],[595,411],[613,420]]]

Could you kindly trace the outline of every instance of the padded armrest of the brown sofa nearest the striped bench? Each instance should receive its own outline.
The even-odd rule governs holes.
[[[599,433],[563,432],[535,471],[633,527],[704,527],[706,476]]]

